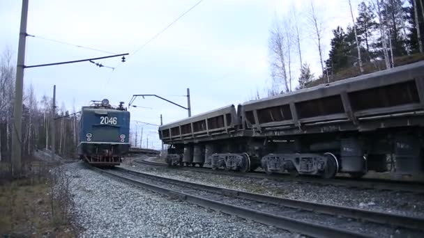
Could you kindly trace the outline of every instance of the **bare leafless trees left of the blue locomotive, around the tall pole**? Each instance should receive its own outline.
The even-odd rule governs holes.
[[[0,161],[10,161],[13,132],[13,102],[15,97],[15,65],[13,51],[5,49],[0,58]],[[24,90],[22,105],[22,159],[31,160],[34,150],[50,149],[50,126],[56,128],[56,154],[75,156],[78,143],[78,116],[69,115],[65,104],[56,109],[52,120],[52,97],[43,95],[37,100],[33,86]],[[75,108],[73,108],[75,113]]]

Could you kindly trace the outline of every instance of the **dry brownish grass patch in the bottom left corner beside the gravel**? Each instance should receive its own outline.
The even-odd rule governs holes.
[[[52,196],[60,184],[46,171],[49,168],[31,170],[31,176],[20,180],[0,181],[0,237],[76,237],[70,216],[64,215],[69,207]]]

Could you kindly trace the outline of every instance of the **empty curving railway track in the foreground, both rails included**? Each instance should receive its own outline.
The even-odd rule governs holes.
[[[126,168],[100,173],[202,207],[311,237],[422,237],[424,219],[222,189]]]

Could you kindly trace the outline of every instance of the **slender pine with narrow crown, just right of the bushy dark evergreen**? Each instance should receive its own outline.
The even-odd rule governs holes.
[[[358,31],[358,37],[362,42],[365,42],[365,60],[368,58],[372,60],[373,55],[370,50],[372,35],[377,30],[376,15],[374,14],[374,7],[371,4],[361,2],[358,6],[358,17],[356,17],[356,29]]]

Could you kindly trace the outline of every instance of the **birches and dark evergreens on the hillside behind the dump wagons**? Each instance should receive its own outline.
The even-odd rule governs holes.
[[[331,49],[325,60],[324,19],[313,1],[310,1],[305,15],[298,15],[292,8],[290,15],[273,21],[268,38],[272,79],[268,95],[423,59],[424,0],[362,1],[357,6],[356,17],[351,1],[347,4],[351,23],[332,30]],[[303,24],[305,31],[299,31],[298,19],[301,17],[306,21]],[[317,49],[321,66],[321,74],[317,78],[302,57],[301,38],[305,35],[301,34],[305,32]],[[300,72],[294,70],[294,63],[300,65]],[[296,81],[298,86],[294,88]],[[258,98],[259,93],[255,97]]]

